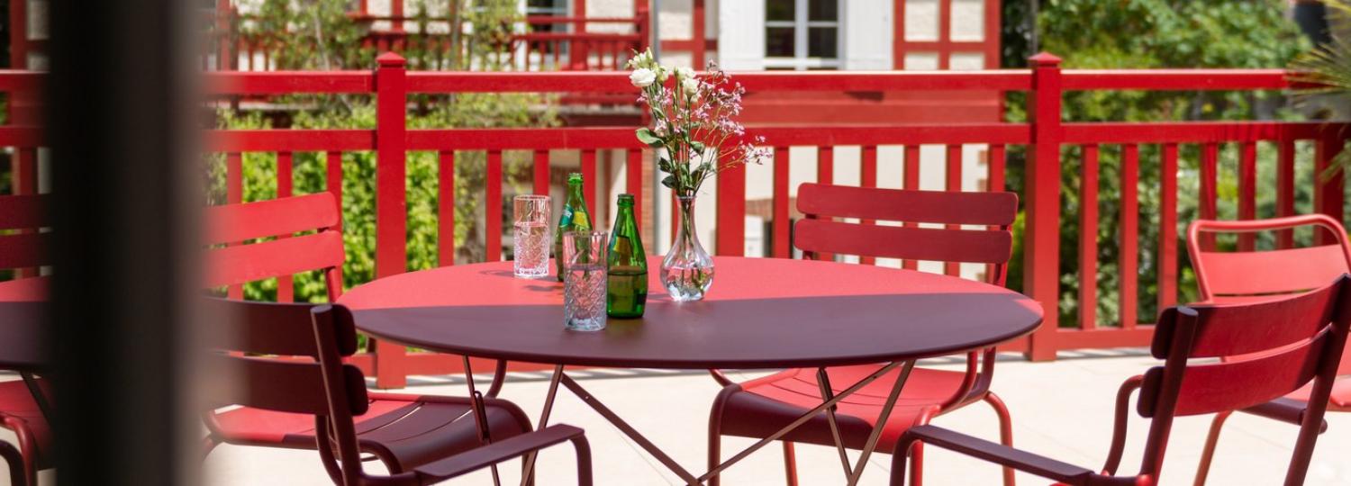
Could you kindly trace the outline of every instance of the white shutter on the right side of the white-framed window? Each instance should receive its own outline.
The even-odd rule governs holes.
[[[846,70],[890,70],[894,9],[890,0],[840,1],[840,53]]]

